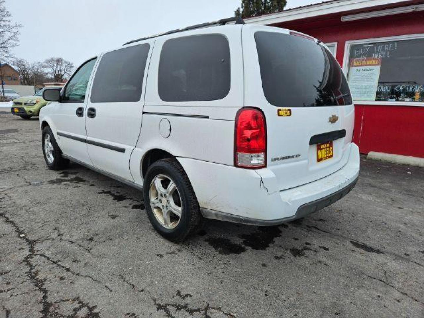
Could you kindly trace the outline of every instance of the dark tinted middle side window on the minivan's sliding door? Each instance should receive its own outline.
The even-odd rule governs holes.
[[[139,101],[149,49],[146,43],[106,53],[94,77],[91,102]]]

